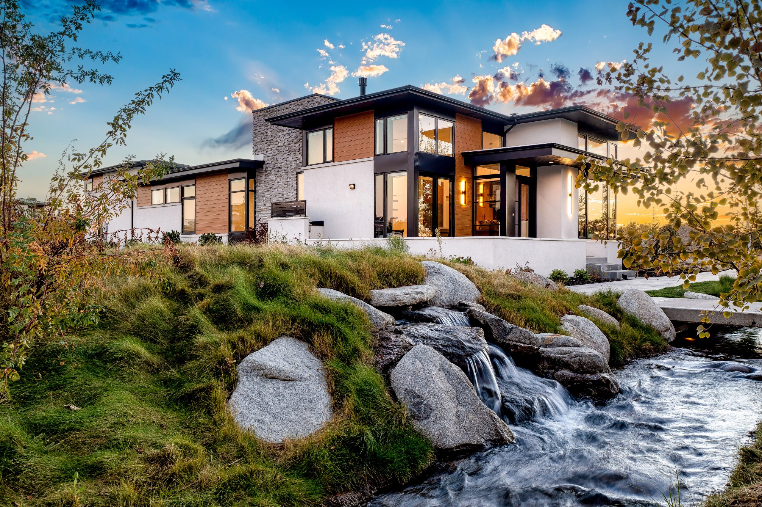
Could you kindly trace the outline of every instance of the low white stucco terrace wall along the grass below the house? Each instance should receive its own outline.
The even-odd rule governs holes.
[[[410,245],[410,253],[427,255],[429,250],[439,252],[436,238],[405,238]],[[307,244],[317,244],[317,240],[309,240]],[[339,239],[324,241],[339,248],[361,248],[366,245],[385,246],[385,238],[373,239]],[[575,269],[585,267],[585,244],[579,239],[549,239],[549,238],[507,238],[504,236],[476,238],[442,238],[442,254],[444,257],[457,255],[471,257],[479,266],[485,269],[514,269],[516,263],[529,266],[540,275],[547,276],[552,269],[563,269],[573,273]]]

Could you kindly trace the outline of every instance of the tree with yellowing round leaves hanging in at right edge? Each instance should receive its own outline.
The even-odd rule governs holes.
[[[583,171],[587,177],[578,177],[578,187],[590,191],[607,184],[616,193],[632,191],[642,206],[660,209],[674,231],[687,226],[687,235],[620,230],[625,266],[641,263],[657,274],[681,271],[686,288],[700,270],[737,269],[732,292],[722,294],[720,305],[748,308],[762,300],[762,217],[757,212],[762,190],[762,2],[636,0],[627,15],[649,35],[663,27],[663,41],[675,43],[677,61],[704,59],[706,68],[692,79],[671,77],[649,61],[651,43],[640,43],[632,62],[620,69],[612,66],[599,84],[613,84],[616,91],[635,97],[654,121],[639,129],[624,112],[616,128],[623,139],[642,147],[642,158],[596,162],[582,157],[589,168]],[[692,105],[684,115],[687,121],[678,117],[678,100]],[[678,183],[691,181],[696,190],[675,190]],[[709,322],[708,314],[703,321]],[[709,336],[703,327],[699,333]]]

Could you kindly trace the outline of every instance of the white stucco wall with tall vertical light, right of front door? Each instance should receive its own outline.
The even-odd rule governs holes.
[[[538,238],[577,238],[576,177],[576,167],[537,167]]]

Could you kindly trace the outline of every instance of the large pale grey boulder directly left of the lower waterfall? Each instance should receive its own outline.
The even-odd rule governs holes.
[[[507,424],[479,400],[466,374],[431,347],[415,346],[390,379],[413,426],[435,448],[460,451],[514,441]]]

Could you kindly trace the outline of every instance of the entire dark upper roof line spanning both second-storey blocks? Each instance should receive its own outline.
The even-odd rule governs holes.
[[[452,113],[472,116],[485,121],[489,125],[503,126],[504,129],[518,123],[565,118],[566,120],[578,123],[585,130],[597,133],[600,136],[608,139],[619,139],[619,132],[616,131],[616,124],[619,123],[619,120],[593,110],[590,107],[571,106],[539,111],[537,113],[505,115],[412,85],[338,100],[331,104],[309,107],[292,113],[271,116],[267,119],[267,122],[293,129],[310,129],[331,123],[331,120],[336,116],[345,116],[366,110],[383,109],[384,107],[405,101],[430,105],[440,110],[450,110]]]

